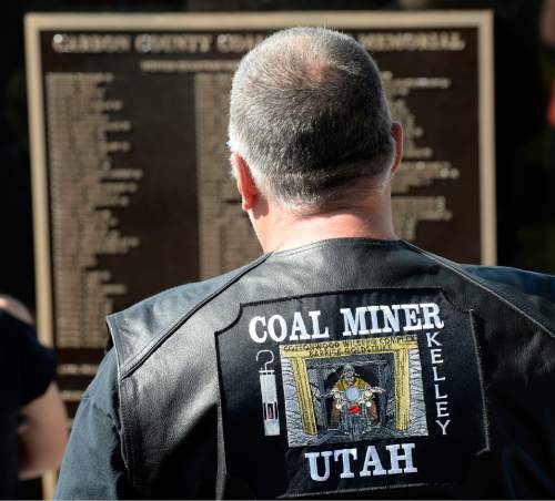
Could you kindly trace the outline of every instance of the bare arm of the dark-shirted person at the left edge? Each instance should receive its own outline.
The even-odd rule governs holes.
[[[68,416],[56,384],[23,407],[21,416],[19,478],[30,479],[58,468],[68,442]]]

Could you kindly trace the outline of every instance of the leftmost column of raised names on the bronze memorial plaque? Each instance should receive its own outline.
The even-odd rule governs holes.
[[[103,348],[103,317],[113,310],[111,297],[123,295],[123,284],[111,283],[98,269],[98,254],[125,254],[139,245],[122,236],[111,208],[129,204],[141,171],[112,168],[112,153],[131,147],[121,136],[131,129],[120,112],[120,100],[105,98],[110,73],[48,73],[47,102],[52,214],[53,279],[57,346]],[[109,139],[118,133],[120,139]]]

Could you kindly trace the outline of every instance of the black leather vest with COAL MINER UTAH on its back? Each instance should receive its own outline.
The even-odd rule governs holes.
[[[129,479],[149,498],[553,497],[554,290],[345,238],[111,315]]]

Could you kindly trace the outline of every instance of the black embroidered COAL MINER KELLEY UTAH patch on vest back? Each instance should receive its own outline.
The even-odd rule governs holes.
[[[256,497],[452,483],[487,448],[471,314],[440,290],[243,305],[216,346],[226,469]]]

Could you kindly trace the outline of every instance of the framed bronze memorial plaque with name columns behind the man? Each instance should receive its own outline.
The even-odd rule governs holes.
[[[490,13],[29,14],[38,325],[71,415],[107,314],[261,253],[229,175],[229,91],[241,57],[291,25],[376,59],[405,132],[397,234],[494,263]]]

